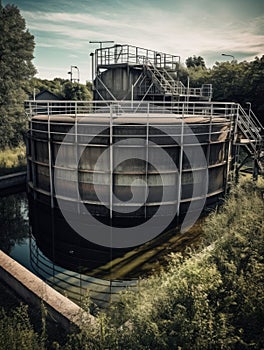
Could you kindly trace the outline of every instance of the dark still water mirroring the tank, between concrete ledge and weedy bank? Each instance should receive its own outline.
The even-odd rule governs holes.
[[[198,224],[184,235],[170,231],[155,242],[113,254],[68,232],[62,218],[32,203],[25,192],[0,197],[0,249],[79,304],[88,293],[96,305],[107,306],[120,290],[137,289],[138,277],[199,236]]]

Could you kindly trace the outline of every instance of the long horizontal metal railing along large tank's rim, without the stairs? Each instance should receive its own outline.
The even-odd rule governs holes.
[[[233,102],[208,101],[33,101],[25,103],[25,111],[31,119],[36,115],[56,115],[58,118],[195,118],[219,117],[234,118],[239,113],[240,105]],[[240,115],[240,114],[239,114]],[[70,120],[70,119],[69,119]],[[59,121],[59,120],[58,120]]]

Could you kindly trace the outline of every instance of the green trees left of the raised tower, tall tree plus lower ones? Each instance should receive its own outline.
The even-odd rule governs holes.
[[[34,37],[14,5],[0,1],[0,150],[18,147],[27,129],[24,101],[45,89],[69,100],[89,100],[91,84],[34,78]]]

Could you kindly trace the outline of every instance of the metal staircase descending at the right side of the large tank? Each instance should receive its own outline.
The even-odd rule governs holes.
[[[236,172],[238,173],[251,158],[253,160],[253,179],[257,179],[259,173],[264,174],[264,128],[252,110],[247,114],[239,104],[234,134],[234,144],[243,146],[247,153],[245,159],[236,167]]]

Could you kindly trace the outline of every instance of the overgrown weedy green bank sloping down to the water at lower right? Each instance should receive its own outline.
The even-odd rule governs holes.
[[[100,312],[97,327],[84,320],[83,331],[56,348],[264,348],[263,193],[263,181],[235,187],[206,218],[199,248],[171,254],[166,269],[140,281],[138,292],[123,293],[120,302]],[[5,324],[0,333],[12,332]]]

